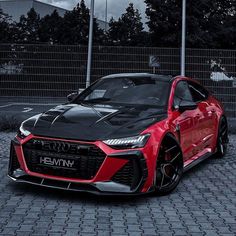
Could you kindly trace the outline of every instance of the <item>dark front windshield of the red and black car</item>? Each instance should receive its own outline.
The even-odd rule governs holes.
[[[169,83],[152,77],[105,78],[86,89],[77,102],[166,106]]]

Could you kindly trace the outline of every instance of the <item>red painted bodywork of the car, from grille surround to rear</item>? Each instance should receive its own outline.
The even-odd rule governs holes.
[[[216,151],[219,120],[220,117],[224,114],[222,105],[212,95],[210,95],[206,101],[198,103],[198,107],[195,110],[188,110],[184,112],[174,110],[173,100],[175,88],[178,82],[181,80],[192,81],[191,79],[186,77],[175,78],[170,91],[167,119],[151,125],[142,132],[142,134],[149,133],[151,134],[151,136],[147,144],[143,148],[137,149],[143,153],[148,168],[148,177],[145,180],[145,183],[143,184],[140,192],[148,192],[155,182],[156,159],[158,158],[160,144],[162,143],[162,140],[167,133],[172,134],[178,141],[182,149],[184,167],[188,166],[203,154],[207,152],[214,153]],[[177,131],[177,126],[179,127],[179,131]],[[14,146],[21,169],[30,176],[79,183],[104,182],[109,181],[112,176],[127,163],[127,160],[125,159],[106,157],[96,176],[91,180],[64,178],[50,176],[47,174],[33,173],[27,168],[22,149],[22,145],[32,138],[42,137],[34,137],[33,135],[30,135],[25,139],[17,137],[20,145]],[[50,138],[45,137],[43,137],[43,139],[50,140]],[[61,139],[53,138],[52,140]],[[77,140],[66,141],[80,143]],[[103,152],[106,153],[107,156],[114,153],[122,153],[128,151],[127,149],[112,149],[102,141],[97,141],[92,144],[99,147]]]

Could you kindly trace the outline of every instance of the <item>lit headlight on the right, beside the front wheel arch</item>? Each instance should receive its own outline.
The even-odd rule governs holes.
[[[150,134],[144,134],[144,135],[128,137],[128,138],[108,139],[103,142],[106,145],[112,148],[117,148],[117,149],[140,148],[140,147],[145,146],[149,137],[150,137]]]

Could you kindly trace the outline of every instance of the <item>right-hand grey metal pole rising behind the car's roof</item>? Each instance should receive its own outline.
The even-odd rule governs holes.
[[[186,54],[186,0],[182,6],[182,45],[181,45],[181,75],[185,76],[185,54]]]

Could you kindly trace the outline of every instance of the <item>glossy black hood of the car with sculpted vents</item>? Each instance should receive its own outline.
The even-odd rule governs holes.
[[[26,120],[32,134],[73,140],[104,140],[140,134],[167,117],[165,109],[149,106],[65,104]]]

